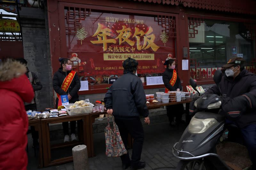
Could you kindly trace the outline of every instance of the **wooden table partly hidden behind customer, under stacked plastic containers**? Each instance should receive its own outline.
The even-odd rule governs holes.
[[[183,103],[186,103],[186,111],[185,111],[185,115],[186,115],[186,123],[188,124],[190,119],[188,118],[188,109],[189,109],[189,103],[191,102],[192,100],[185,100],[185,101],[180,101],[180,102],[169,102],[169,103],[162,103],[162,102],[157,102],[157,104],[153,104],[152,102],[149,103],[148,105],[148,109],[156,109],[156,108],[159,108],[159,107],[162,107],[162,106],[170,106],[170,105],[177,105],[177,104],[183,104]],[[92,134],[92,131],[93,131],[93,128],[92,128],[92,123],[95,122],[95,118],[99,117],[99,115],[102,115],[102,114],[107,114],[106,111],[104,112],[95,112],[95,113],[90,113],[90,136],[91,136],[91,154],[92,154],[92,157],[94,157],[94,144],[93,144],[93,134]],[[128,140],[128,145],[131,145],[131,141]]]

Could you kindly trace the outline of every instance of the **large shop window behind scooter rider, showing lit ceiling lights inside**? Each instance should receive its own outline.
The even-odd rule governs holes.
[[[255,41],[244,23],[188,18],[190,73],[192,78],[212,78],[215,70],[235,56],[255,70]]]

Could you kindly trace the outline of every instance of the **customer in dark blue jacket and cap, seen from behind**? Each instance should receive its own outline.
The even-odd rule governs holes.
[[[136,60],[126,59],[123,62],[124,75],[113,83],[104,98],[107,113],[114,115],[126,149],[128,133],[134,139],[132,160],[128,152],[121,156],[123,169],[127,169],[130,165],[132,169],[145,167],[145,162],[140,161],[144,140],[140,116],[144,117],[144,122],[147,124],[150,120],[143,85],[140,78],[135,75],[137,66]]]

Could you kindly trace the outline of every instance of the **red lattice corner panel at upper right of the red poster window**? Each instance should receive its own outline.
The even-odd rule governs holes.
[[[155,21],[159,26],[164,28],[164,31],[169,34],[169,38],[176,38],[176,18],[173,16],[157,15]]]

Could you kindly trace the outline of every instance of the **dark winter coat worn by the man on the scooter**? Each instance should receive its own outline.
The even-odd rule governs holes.
[[[241,128],[256,123],[256,75],[242,70],[233,77],[223,76],[220,82],[222,94],[231,98],[222,100],[222,109],[232,121]],[[205,93],[220,95],[217,85],[213,85]]]

